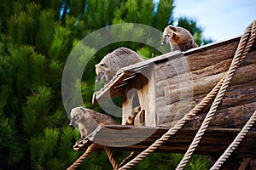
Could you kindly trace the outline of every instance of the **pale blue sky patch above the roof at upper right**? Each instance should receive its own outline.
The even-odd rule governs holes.
[[[176,0],[174,17],[196,20],[204,37],[221,41],[239,36],[256,20],[255,0]]]

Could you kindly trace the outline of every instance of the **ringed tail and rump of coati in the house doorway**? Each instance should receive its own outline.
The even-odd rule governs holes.
[[[137,106],[131,111],[131,115],[128,116],[125,125],[142,126],[145,122],[145,110],[142,110],[140,106]]]

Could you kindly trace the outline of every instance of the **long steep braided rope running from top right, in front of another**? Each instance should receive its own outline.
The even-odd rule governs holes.
[[[220,104],[221,100],[224,97],[224,93],[225,93],[226,89],[228,88],[228,86],[230,84],[230,81],[231,81],[231,79],[232,79],[232,77],[233,77],[233,75],[236,71],[237,66],[241,63],[241,59],[245,58],[245,56],[248,53],[249,48],[251,48],[251,46],[253,45],[253,42],[248,42],[247,43],[247,40],[251,36],[251,32],[254,32],[254,31],[252,31],[252,27],[255,28],[254,25],[255,25],[255,21],[253,21],[253,23],[251,23],[249,26],[247,26],[247,29],[246,29],[245,33],[241,37],[238,48],[236,50],[235,57],[232,60],[229,71],[227,72],[227,76],[224,78],[224,83],[221,86],[221,88],[219,89],[219,92],[218,92],[216,98],[214,99],[214,101],[212,103],[210,111],[207,113],[207,116],[206,116],[205,120],[202,122],[202,125],[201,125],[200,129],[195,134],[195,138],[193,139],[192,143],[189,145],[189,149],[187,150],[187,152],[183,156],[182,161],[180,161],[179,164],[177,165],[177,168],[176,168],[177,170],[181,170],[181,169],[183,169],[183,167],[186,166],[187,162],[189,161],[189,158],[193,154],[193,151],[195,150],[195,148],[199,144],[199,142],[201,140],[201,137],[203,136],[203,134],[207,130],[209,122],[212,120],[212,116],[214,116],[215,111],[217,111],[218,105]],[[250,40],[253,41],[252,38],[250,38]],[[250,47],[247,47],[246,48],[247,53],[244,53],[243,50],[245,49],[245,47],[247,45],[250,46]]]

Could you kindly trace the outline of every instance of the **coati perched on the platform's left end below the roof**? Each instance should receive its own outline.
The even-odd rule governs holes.
[[[111,116],[92,111],[84,107],[73,108],[69,126],[78,126],[81,133],[81,139],[92,133],[96,127],[101,125],[117,124]]]

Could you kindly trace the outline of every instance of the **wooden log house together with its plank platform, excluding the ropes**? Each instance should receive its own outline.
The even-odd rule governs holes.
[[[83,142],[75,144],[74,150],[86,150],[92,143],[119,151],[143,151],[148,148],[200,103],[224,77],[230,68],[240,39],[241,37],[234,37],[200,48],[192,48],[183,53],[174,51],[162,54],[119,70],[104,88],[95,93],[93,103],[122,96],[122,124],[125,124],[127,117],[137,106],[144,110],[144,122],[139,122],[134,127],[122,125],[98,127],[95,133],[91,133]],[[195,154],[218,157],[236,138],[241,127],[256,111],[255,73],[256,43],[254,42],[245,59],[236,68],[224,98],[218,105],[218,110]],[[197,116],[155,151],[185,153],[195,133],[201,127],[201,122],[211,104],[212,102],[209,102]],[[140,138],[141,140],[137,142]],[[238,162],[247,157],[255,159],[255,143],[254,125],[228,162]]]

